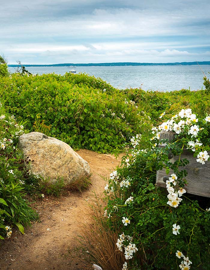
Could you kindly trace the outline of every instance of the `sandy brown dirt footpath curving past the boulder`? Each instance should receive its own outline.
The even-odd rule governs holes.
[[[54,200],[44,198],[36,207],[41,223],[33,223],[25,235],[18,234],[2,242],[1,270],[79,269],[78,262],[63,254],[75,244],[74,238],[80,234],[82,223],[88,222],[85,213],[88,203],[94,200],[93,192],[100,196],[104,191],[106,181],[102,177],[109,176],[121,159],[88,150],[77,153],[91,167],[92,185],[82,193],[69,193]]]

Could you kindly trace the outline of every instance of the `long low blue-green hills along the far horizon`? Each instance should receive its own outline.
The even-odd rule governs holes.
[[[68,66],[188,66],[188,65],[210,65],[210,61],[198,62],[176,62],[176,63],[135,63],[135,62],[117,62],[117,63],[65,63],[65,64],[50,64],[50,65],[36,65],[36,64],[22,64],[24,67],[68,67]],[[17,67],[17,64],[8,65],[9,67]]]

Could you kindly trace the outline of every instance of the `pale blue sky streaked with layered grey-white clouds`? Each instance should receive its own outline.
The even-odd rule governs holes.
[[[209,0],[0,0],[8,64],[210,61]]]

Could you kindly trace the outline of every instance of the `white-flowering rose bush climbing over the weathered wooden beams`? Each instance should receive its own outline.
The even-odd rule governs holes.
[[[162,140],[166,144],[159,148],[162,130],[175,132],[175,138],[170,143]],[[110,174],[105,188],[104,214],[110,228],[114,229],[117,223],[116,248],[125,256],[122,269],[209,268],[209,199],[186,193],[187,171],[182,167],[188,161],[179,158],[172,164],[168,157],[169,152],[181,157],[187,148],[205,166],[209,159],[209,131],[208,115],[199,119],[185,109],[152,128],[150,148],[139,147],[139,134],[131,138],[133,150],[122,159],[122,166]],[[166,189],[155,184],[156,171],[163,168],[166,173],[170,169],[174,172],[166,181],[168,195]]]

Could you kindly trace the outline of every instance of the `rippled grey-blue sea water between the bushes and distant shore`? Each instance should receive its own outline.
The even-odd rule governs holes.
[[[210,65],[201,66],[207,77],[210,77]],[[14,67],[9,68],[11,72]],[[33,74],[56,73],[64,75],[67,67],[26,67]],[[182,88],[198,90],[203,86],[203,73],[198,65],[192,66],[108,66],[76,67],[76,73],[82,72],[100,77],[112,86],[125,88],[142,88],[147,90],[173,91]]]

